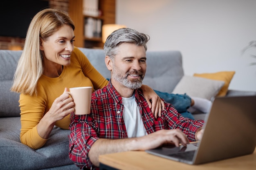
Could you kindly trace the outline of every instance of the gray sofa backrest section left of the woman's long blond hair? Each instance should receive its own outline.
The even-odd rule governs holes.
[[[10,91],[22,51],[0,50],[0,117],[20,116],[19,94]]]

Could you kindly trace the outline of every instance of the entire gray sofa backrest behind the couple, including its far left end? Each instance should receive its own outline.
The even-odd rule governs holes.
[[[105,78],[110,79],[103,49],[79,49]],[[10,88],[21,53],[0,50],[0,117],[20,116],[19,94],[11,92]],[[171,93],[184,75],[180,51],[147,51],[146,63],[143,84],[158,91]]]

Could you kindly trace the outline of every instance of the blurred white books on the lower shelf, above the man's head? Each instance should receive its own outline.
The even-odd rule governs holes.
[[[101,38],[101,19],[85,18],[84,35],[86,38]]]

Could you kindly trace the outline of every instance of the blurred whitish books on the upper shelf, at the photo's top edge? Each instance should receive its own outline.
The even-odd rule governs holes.
[[[83,15],[99,16],[99,0],[83,0]]]

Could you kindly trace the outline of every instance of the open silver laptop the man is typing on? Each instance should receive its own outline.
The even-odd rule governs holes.
[[[186,147],[161,146],[146,152],[188,164],[218,161],[254,152],[256,96],[216,97],[206,115],[204,135]]]

